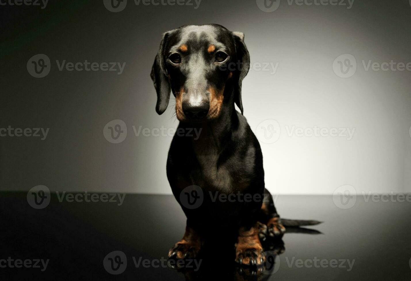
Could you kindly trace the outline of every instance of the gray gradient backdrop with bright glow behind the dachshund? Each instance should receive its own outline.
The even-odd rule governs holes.
[[[0,137],[0,190],[42,184],[51,190],[171,194],[165,168],[171,136],[135,136],[132,126],[178,125],[173,107],[162,116],[155,112],[149,74],[162,33],[219,23],[245,33],[254,69],[243,82],[244,115],[260,140],[264,126],[277,139],[261,142],[272,193],[332,194],[345,184],[358,193],[411,191],[411,72],[366,71],[361,62],[411,62],[409,0],[355,0],[351,9],[281,0],[272,12],[253,0],[202,0],[197,9],[193,3],[136,6],[128,0],[117,13],[100,0],[0,7],[7,14],[0,128],[50,128],[43,141]],[[35,54],[51,59],[44,78],[26,68]],[[352,77],[333,70],[342,54],[356,59]],[[55,60],[126,66],[121,75],[59,71]],[[258,70],[258,63],[278,63],[277,70]],[[103,135],[115,119],[128,130],[117,144]],[[290,136],[293,126],[355,131],[350,140]]]

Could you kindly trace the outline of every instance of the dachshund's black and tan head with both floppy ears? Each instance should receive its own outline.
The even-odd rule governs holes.
[[[213,120],[234,102],[243,113],[241,83],[249,61],[244,34],[221,25],[185,25],[164,33],[151,70],[157,113],[167,109],[170,91],[180,121]]]

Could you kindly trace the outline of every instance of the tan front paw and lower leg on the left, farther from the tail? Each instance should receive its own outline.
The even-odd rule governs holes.
[[[170,249],[169,258],[192,259],[197,256],[200,249],[201,238],[199,233],[190,226],[189,220],[187,220],[184,236]]]

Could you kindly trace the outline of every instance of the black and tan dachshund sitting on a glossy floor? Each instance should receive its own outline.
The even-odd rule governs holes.
[[[280,220],[264,187],[261,148],[242,115],[241,83],[249,61],[244,34],[221,25],[186,25],[163,35],[151,78],[158,114],[167,109],[170,92],[175,96],[180,134],[171,143],[167,177],[187,216],[185,234],[170,258],[194,258],[207,240],[233,239],[236,262],[260,265],[260,238],[281,236],[284,225],[318,223]],[[181,134],[193,128],[201,129],[198,138]],[[192,185],[204,191],[198,208],[187,208],[180,200],[182,190]],[[213,198],[217,194],[244,196],[223,202]],[[244,199],[246,195],[253,199]]]

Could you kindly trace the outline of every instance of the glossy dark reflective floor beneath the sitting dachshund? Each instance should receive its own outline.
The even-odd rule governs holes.
[[[118,204],[59,202],[54,195],[46,208],[37,210],[28,204],[26,193],[0,193],[0,279],[411,278],[409,202],[365,202],[363,196],[358,196],[352,208],[342,209],[331,196],[280,195],[276,205],[284,218],[316,219],[324,223],[311,227],[316,231],[288,229],[282,240],[266,241],[265,250],[271,251],[268,260],[275,264],[257,272],[236,267],[232,253],[217,251],[204,256],[201,264],[193,262],[190,269],[172,269],[166,265],[165,258],[185,229],[185,217],[175,199],[168,195],[127,194],[121,206]],[[110,256],[113,251],[124,253],[127,261],[120,252]],[[121,264],[116,263],[119,257],[124,262],[120,269],[123,272],[112,275],[103,261],[112,258],[116,268]],[[38,268],[17,268],[17,259],[22,262],[30,259],[33,265],[35,259],[49,261],[44,270],[41,261]]]

